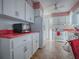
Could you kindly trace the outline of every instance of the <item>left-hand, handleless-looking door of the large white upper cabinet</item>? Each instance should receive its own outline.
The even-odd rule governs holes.
[[[15,0],[3,0],[3,14],[15,17]]]

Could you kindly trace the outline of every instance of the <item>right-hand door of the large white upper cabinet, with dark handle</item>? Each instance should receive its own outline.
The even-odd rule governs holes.
[[[25,0],[15,0],[16,18],[25,21]]]

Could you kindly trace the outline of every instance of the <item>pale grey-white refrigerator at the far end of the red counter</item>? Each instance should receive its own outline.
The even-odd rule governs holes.
[[[39,48],[43,48],[43,17],[35,17],[34,23],[31,24],[31,31],[39,32]]]

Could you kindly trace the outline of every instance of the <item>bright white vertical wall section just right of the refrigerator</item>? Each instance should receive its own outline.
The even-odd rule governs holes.
[[[52,23],[53,19],[51,16],[44,17],[43,19],[44,39],[52,40]]]

